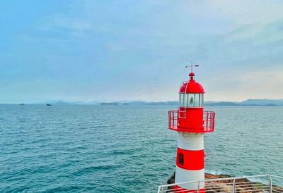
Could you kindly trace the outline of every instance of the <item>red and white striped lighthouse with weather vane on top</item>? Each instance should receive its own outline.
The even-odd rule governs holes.
[[[204,111],[204,88],[190,67],[189,80],[180,85],[179,108],[168,112],[168,127],[178,132],[175,183],[204,180],[204,133],[214,132],[215,113]],[[174,189],[205,192],[204,182],[181,183]]]

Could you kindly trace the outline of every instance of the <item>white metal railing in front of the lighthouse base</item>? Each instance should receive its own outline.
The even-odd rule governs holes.
[[[203,184],[204,187],[200,187]],[[190,187],[184,190],[180,187]],[[205,190],[204,190],[205,189]],[[217,178],[202,181],[182,182],[158,187],[158,193],[248,193],[248,192],[283,192],[283,177],[277,175],[250,175],[238,178]]]

